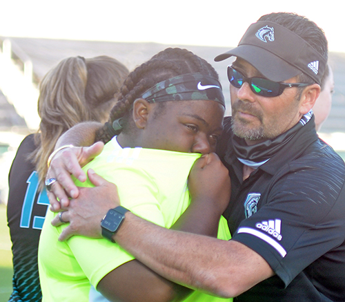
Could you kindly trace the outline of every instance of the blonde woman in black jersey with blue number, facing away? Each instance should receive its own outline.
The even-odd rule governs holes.
[[[75,124],[108,120],[114,95],[128,73],[111,57],[69,57],[43,77],[39,131],[21,142],[9,174],[8,226],[14,267],[9,301],[41,301],[37,249],[49,205],[43,189],[47,160],[55,143]]]

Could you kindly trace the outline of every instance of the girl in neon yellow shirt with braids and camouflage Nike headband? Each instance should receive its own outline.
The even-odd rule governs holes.
[[[219,223],[219,219],[230,189],[217,205],[207,198],[202,205],[192,205],[210,209],[205,219],[212,222],[207,221],[205,229],[179,220],[182,214],[188,215],[190,169],[201,154],[215,151],[222,130],[224,96],[214,68],[188,50],[168,48],[130,73],[119,95],[109,122],[97,135],[97,140],[107,144],[101,155],[84,167],[89,180],[77,185],[92,186],[95,170],[116,182],[122,205],[137,215],[168,228],[186,230],[189,224],[189,232],[209,235],[216,235],[219,225],[219,238],[228,240],[226,221],[222,218]],[[215,180],[220,178],[229,187],[224,167],[215,175]],[[103,236],[108,239],[112,214],[103,220]],[[102,301],[99,292],[111,301],[181,301],[190,294],[106,238],[73,236],[59,242],[66,225],[52,227],[53,217],[48,214],[39,244],[43,301]],[[63,215],[59,218],[63,221]],[[201,292],[186,298],[219,300]]]

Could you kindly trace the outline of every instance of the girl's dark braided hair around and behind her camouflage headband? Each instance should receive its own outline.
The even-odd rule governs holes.
[[[166,48],[135,68],[122,84],[117,95],[118,102],[112,107],[108,122],[97,131],[96,141],[107,143],[114,135],[127,131],[132,104],[149,88],[171,77],[187,73],[201,73],[218,79],[215,68],[206,60],[181,48]],[[119,118],[123,119],[123,129],[114,131],[112,122]]]

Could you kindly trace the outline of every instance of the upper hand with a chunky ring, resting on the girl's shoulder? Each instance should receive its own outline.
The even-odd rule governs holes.
[[[46,179],[55,178],[57,180],[52,185],[50,192],[47,192],[52,211],[68,207],[68,197],[77,198],[79,196],[79,190],[75,186],[71,174],[81,182],[86,181],[86,174],[81,167],[99,155],[103,147],[103,142],[96,142],[90,147],[66,148],[55,154],[46,176]]]

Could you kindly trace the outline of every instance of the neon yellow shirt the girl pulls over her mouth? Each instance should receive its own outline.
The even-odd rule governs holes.
[[[92,168],[117,185],[121,205],[161,227],[170,228],[189,205],[188,174],[197,153],[157,149],[124,148],[113,138],[84,171]],[[93,187],[90,180],[75,182]],[[52,227],[55,214],[48,211],[39,243],[39,275],[43,301],[89,301],[90,283],[101,279],[134,257],[116,243],[103,238],[72,236],[57,238],[66,225]],[[230,239],[225,218],[219,223],[219,238]],[[224,301],[194,292],[185,301]]]

